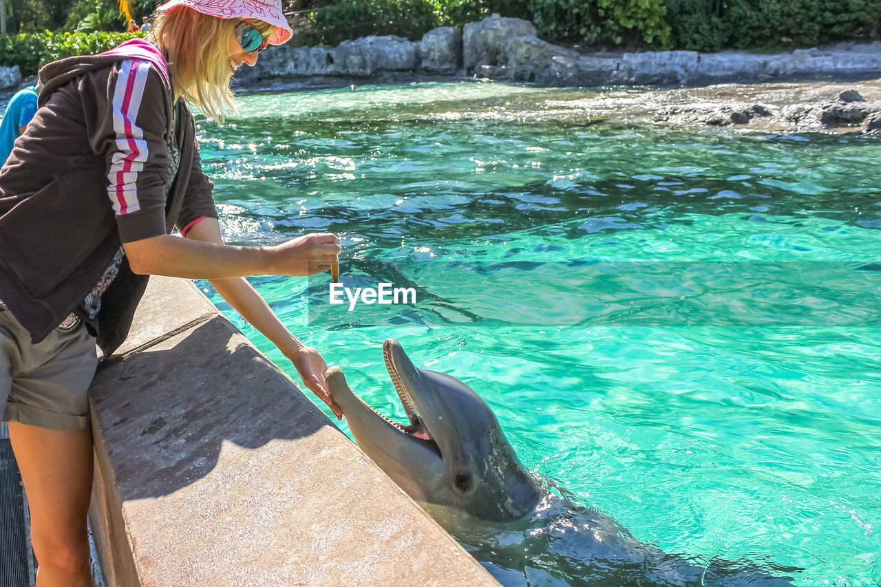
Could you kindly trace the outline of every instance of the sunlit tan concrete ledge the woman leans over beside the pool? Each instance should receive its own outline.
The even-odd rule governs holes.
[[[92,389],[109,585],[498,584],[189,282],[125,349]]]

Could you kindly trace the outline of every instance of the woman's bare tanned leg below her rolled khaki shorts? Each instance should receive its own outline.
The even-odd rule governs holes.
[[[91,587],[85,518],[92,497],[92,430],[10,422],[9,438],[31,509],[37,587]]]

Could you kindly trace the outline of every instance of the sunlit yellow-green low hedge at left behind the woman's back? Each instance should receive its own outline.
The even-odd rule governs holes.
[[[19,65],[32,76],[43,65],[75,55],[94,55],[143,33],[19,33],[0,37],[0,65]]]

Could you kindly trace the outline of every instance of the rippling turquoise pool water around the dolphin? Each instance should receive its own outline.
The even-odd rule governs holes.
[[[349,312],[327,275],[252,279],[381,412],[393,337],[638,539],[881,583],[881,142],[596,121],[590,95],[250,96],[199,134],[227,241],[332,231],[344,285],[417,289]]]

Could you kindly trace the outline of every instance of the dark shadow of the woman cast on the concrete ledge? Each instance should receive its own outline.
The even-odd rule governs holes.
[[[96,420],[129,499],[158,497],[211,472],[226,440],[246,449],[337,432],[223,317],[126,356],[93,383]]]

